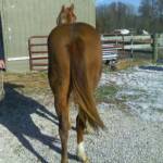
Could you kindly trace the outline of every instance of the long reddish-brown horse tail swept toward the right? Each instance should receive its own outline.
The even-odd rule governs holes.
[[[89,124],[98,129],[104,128],[96,103],[93,101],[92,92],[88,84],[86,60],[85,60],[85,43],[82,38],[76,38],[70,47],[71,55],[71,79],[73,86],[74,98],[79,105],[79,109],[86,115]]]

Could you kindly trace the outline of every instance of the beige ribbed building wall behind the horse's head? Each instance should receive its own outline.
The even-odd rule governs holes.
[[[62,4],[75,4],[78,22],[95,25],[95,0],[0,0],[7,70],[27,72],[28,38],[48,35]]]

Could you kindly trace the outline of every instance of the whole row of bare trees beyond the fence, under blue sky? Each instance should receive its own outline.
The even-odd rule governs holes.
[[[97,8],[97,28],[110,33],[117,28],[146,29],[163,32],[163,0],[141,0],[136,12],[135,7],[123,2],[112,2]]]

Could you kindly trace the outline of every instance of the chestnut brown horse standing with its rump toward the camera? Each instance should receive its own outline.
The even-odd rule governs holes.
[[[71,93],[79,108],[76,118],[77,155],[86,163],[88,162],[84,149],[86,121],[95,129],[104,127],[93,100],[93,90],[101,74],[100,36],[88,24],[62,21],[61,15],[65,14],[63,9],[62,7],[58,18],[59,25],[52,29],[48,37],[48,77],[59,117],[59,134],[62,143],[61,163],[68,162],[68,102]]]

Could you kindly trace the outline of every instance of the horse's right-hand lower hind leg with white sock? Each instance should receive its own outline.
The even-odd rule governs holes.
[[[84,147],[84,130],[86,128],[86,115],[79,111],[76,117],[76,131],[77,131],[77,156],[84,162],[89,163]]]

